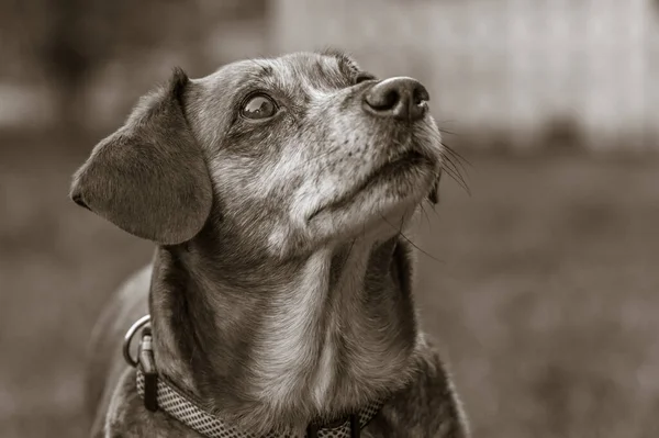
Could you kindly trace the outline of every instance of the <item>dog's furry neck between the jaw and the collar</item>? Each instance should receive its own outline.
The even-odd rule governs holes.
[[[402,386],[417,340],[398,237],[246,263],[194,242],[159,248],[159,371],[257,434],[332,419]]]

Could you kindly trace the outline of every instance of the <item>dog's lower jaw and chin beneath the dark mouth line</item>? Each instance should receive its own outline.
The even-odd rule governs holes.
[[[337,239],[395,234],[433,189],[436,162],[407,154],[330,200],[308,217],[309,229]]]

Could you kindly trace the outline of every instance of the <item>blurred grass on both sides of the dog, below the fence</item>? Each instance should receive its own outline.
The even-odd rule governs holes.
[[[91,325],[150,257],[67,199],[100,138],[0,136],[3,438],[85,436]],[[474,436],[659,436],[659,162],[468,158],[471,196],[444,181],[410,237]]]

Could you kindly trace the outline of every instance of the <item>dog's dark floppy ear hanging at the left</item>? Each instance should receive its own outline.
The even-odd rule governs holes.
[[[70,198],[120,228],[161,245],[194,237],[212,203],[208,167],[186,121],[190,80],[176,69],[142,98],[74,176]]]

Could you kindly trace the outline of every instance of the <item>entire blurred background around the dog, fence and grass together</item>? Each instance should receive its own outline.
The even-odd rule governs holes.
[[[462,157],[411,238],[474,437],[659,436],[659,2],[1,0],[0,437],[85,436],[90,328],[150,258],[68,200],[93,145],[174,66],[327,46],[422,80]]]

